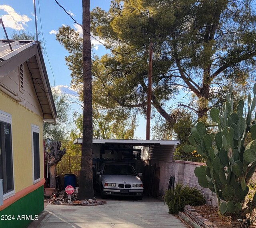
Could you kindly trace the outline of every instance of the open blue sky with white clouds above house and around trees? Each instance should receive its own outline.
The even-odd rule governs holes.
[[[46,64],[48,77],[52,87],[71,94],[76,95],[70,89],[70,71],[66,66],[64,57],[68,56],[68,52],[60,45],[55,38],[56,31],[62,25],[71,26],[79,30],[79,26],[75,25],[72,19],[56,4],[54,0],[35,0],[36,1],[36,17],[38,31],[42,34],[39,35],[39,40],[45,42],[46,54],[44,54],[44,61]],[[74,19],[82,24],[82,1],[81,0],[58,0],[58,2],[74,17]],[[90,8],[96,6],[104,10],[108,10],[110,0],[91,1]],[[39,11],[40,10],[40,11]],[[4,26],[8,36],[10,37],[13,32],[18,30],[26,30],[26,32],[35,33],[34,21],[34,5],[33,0],[1,0],[0,2],[0,17],[2,17]],[[42,24],[42,27],[41,27]],[[42,36],[43,35],[43,36]],[[4,38],[4,30],[0,26],[0,39]],[[94,52],[101,56],[108,52],[104,46],[99,44],[96,40],[92,40],[95,45]],[[50,64],[49,64],[50,62]],[[51,69],[51,67],[52,69]],[[73,96],[74,97],[74,96]],[[73,110],[79,109],[78,105],[72,106]],[[70,113],[70,118],[72,117]],[[144,118],[139,118],[138,127],[135,136],[139,139],[145,139],[146,121]]]

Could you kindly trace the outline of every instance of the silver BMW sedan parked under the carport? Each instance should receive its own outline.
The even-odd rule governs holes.
[[[97,174],[97,189],[101,197],[120,195],[136,196],[142,199],[143,183],[140,180],[142,173],[137,175],[132,165],[104,164]]]

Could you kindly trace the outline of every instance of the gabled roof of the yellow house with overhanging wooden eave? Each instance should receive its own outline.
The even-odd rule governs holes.
[[[57,112],[39,42],[10,40],[10,45],[12,51],[7,40],[0,40],[0,76],[7,75],[15,67],[26,62],[42,107],[44,120],[55,122]]]

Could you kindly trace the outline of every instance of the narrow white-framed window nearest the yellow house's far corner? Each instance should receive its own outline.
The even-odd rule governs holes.
[[[32,163],[33,163],[33,182],[40,180],[40,145],[39,145],[39,126],[31,125],[32,141]]]

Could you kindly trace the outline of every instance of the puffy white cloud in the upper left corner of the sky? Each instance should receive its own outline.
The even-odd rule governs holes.
[[[31,21],[27,15],[20,15],[15,12],[14,8],[8,5],[0,5],[0,10],[7,14],[0,14],[6,28],[13,28],[15,30],[24,30],[27,22]]]

